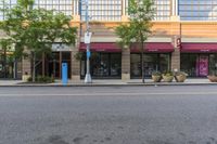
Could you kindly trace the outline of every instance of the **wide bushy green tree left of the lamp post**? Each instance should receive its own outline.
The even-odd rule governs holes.
[[[51,53],[54,42],[75,44],[77,28],[71,25],[71,16],[34,9],[34,0],[18,0],[14,8],[1,11],[4,11],[5,21],[0,23],[0,29],[15,43],[15,56],[30,58],[33,81],[36,58]]]

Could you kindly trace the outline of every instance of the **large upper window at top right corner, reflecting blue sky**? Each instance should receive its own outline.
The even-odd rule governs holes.
[[[216,21],[216,0],[179,0],[179,15],[182,21]]]

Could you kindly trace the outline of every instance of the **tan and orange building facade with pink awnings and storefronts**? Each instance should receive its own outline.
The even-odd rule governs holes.
[[[13,6],[15,0],[9,0]],[[128,0],[89,0],[90,29],[93,32],[90,51],[90,73],[93,78],[131,79],[141,77],[141,54],[137,48],[120,49],[114,28],[128,22]],[[183,70],[190,77],[217,73],[217,0],[154,0],[156,10],[152,35],[145,43],[144,71]],[[3,6],[4,3],[0,3]],[[42,63],[49,76],[61,78],[61,64],[68,64],[68,77],[79,80],[86,74],[86,6],[80,0],[36,0],[35,8],[55,9],[72,15],[78,27],[74,48],[53,43],[53,56]],[[3,13],[0,14],[3,19]],[[76,60],[79,55],[79,60]],[[22,63],[22,74],[30,74],[28,61]]]

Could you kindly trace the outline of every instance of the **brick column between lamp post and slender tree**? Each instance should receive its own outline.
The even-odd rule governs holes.
[[[122,80],[130,79],[130,50],[123,49],[122,51]]]

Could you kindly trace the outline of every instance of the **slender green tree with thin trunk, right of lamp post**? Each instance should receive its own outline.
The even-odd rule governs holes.
[[[129,0],[129,22],[116,27],[115,32],[119,37],[118,44],[123,48],[131,48],[139,44],[141,51],[142,82],[144,83],[144,42],[151,34],[151,21],[154,17],[152,0]]]

